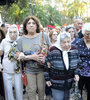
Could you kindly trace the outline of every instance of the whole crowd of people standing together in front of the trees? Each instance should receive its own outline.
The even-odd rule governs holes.
[[[42,30],[35,16],[28,16],[21,25],[9,26],[2,36],[0,29],[0,56],[3,68],[5,100],[23,100],[22,65],[27,77],[26,94],[28,100],[49,98],[69,100],[70,89],[75,81],[90,100],[90,23],[82,26],[82,19],[50,32]],[[13,81],[14,80],[14,81]]]

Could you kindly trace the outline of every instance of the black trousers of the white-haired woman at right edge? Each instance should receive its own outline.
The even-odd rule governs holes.
[[[90,77],[80,76],[79,89],[81,90],[81,95],[84,86],[87,90],[87,100],[90,100]]]

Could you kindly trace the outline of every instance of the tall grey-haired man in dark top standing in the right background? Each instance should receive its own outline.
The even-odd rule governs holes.
[[[82,34],[82,25],[83,25],[83,21],[80,17],[77,17],[74,20],[74,27],[76,29],[76,35],[78,38],[82,38],[83,34]]]

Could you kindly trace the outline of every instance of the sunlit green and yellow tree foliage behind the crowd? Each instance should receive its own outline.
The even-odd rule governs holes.
[[[30,0],[18,0],[12,5],[0,6],[2,11],[3,21],[7,20],[10,24],[21,24],[25,17],[34,15],[40,19],[43,26],[49,25],[60,25],[65,23],[71,24],[76,16],[83,17],[83,13],[86,10],[87,3],[82,0],[55,0],[55,7],[50,5],[52,0],[31,0],[36,5],[29,5]],[[46,1],[46,4],[43,2]],[[62,5],[62,10],[57,10],[59,4]],[[90,18],[83,18],[84,21],[90,20]]]

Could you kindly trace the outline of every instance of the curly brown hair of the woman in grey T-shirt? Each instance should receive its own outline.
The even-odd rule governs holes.
[[[23,21],[23,32],[24,32],[24,34],[25,34],[25,35],[28,34],[28,31],[27,31],[27,29],[26,29],[26,25],[27,25],[27,23],[28,23],[28,21],[29,21],[30,19],[32,19],[32,20],[35,21],[36,26],[37,26],[36,32],[37,32],[37,33],[40,33],[40,21],[39,21],[39,19],[38,19],[37,17],[35,17],[35,16],[28,16],[28,17],[26,17],[26,18],[24,19],[24,21]]]

